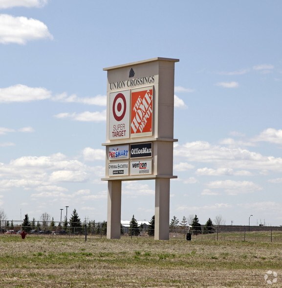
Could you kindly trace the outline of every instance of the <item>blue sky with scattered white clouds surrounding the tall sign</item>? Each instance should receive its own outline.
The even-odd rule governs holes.
[[[282,225],[281,11],[278,0],[0,0],[0,209],[106,220],[103,68],[167,57],[180,60],[170,218]],[[121,217],[133,214],[154,214],[153,180],[123,182]]]

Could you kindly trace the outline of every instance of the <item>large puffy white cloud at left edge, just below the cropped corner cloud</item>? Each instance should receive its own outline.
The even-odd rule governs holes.
[[[47,26],[39,20],[0,15],[0,43],[26,44],[27,41],[53,39]]]

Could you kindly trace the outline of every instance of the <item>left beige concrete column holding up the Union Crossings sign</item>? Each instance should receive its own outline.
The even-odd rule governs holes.
[[[107,239],[120,239],[121,180],[108,181]]]

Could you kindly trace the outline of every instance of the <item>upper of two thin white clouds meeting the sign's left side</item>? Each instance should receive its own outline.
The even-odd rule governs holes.
[[[53,97],[52,100],[66,103],[82,103],[88,105],[107,106],[106,95],[97,95],[95,97],[78,97],[75,94],[67,96],[66,93],[63,93]]]

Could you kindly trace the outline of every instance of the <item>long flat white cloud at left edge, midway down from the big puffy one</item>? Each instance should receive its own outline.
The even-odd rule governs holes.
[[[51,92],[45,88],[32,88],[22,84],[0,89],[0,103],[29,102],[50,97]]]

